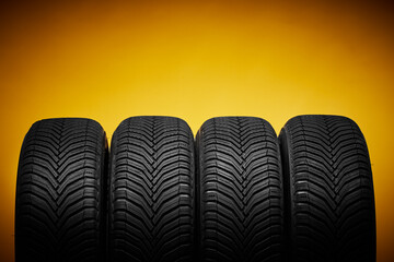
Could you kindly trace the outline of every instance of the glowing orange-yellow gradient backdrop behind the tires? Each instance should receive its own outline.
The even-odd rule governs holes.
[[[167,115],[194,133],[256,116],[352,118],[367,139],[378,261],[394,261],[394,9],[382,1],[1,1],[0,261],[13,261],[19,153],[33,122]],[[16,3],[15,3],[16,2]]]

